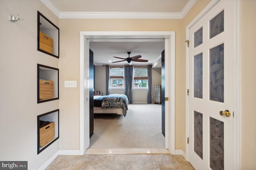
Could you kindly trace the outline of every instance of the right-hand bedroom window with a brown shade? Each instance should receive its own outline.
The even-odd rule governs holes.
[[[147,67],[134,67],[134,88],[148,89]]]

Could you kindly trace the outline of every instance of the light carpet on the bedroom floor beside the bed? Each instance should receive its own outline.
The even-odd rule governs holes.
[[[95,115],[89,148],[165,148],[161,105],[129,104],[126,117]]]

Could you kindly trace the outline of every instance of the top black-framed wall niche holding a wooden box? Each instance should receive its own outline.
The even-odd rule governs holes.
[[[37,12],[37,50],[59,58],[60,29]]]

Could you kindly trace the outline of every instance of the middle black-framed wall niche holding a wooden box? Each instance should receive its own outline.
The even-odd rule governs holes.
[[[59,99],[59,69],[37,64],[37,103]]]

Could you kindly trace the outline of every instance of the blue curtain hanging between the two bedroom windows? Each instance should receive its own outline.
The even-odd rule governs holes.
[[[132,103],[132,67],[124,67],[125,95]]]

